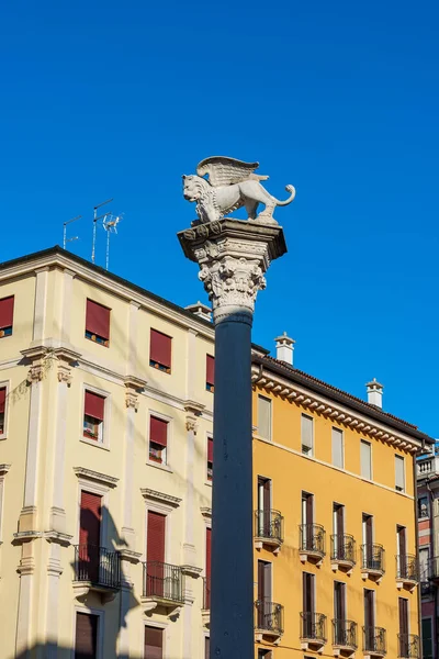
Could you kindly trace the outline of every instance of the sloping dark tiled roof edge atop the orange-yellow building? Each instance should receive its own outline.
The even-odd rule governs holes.
[[[271,369],[272,371],[278,372],[286,379],[292,380],[296,384],[302,384],[303,387],[307,387],[317,393],[327,395],[329,399],[333,399],[339,403],[344,403],[345,405],[350,406],[358,412],[362,412],[363,414],[381,421],[382,423],[386,423],[387,425],[412,435],[421,442],[426,442],[427,444],[435,443],[432,437],[421,433],[416,425],[408,423],[403,418],[398,418],[389,412],[384,412],[376,405],[372,405],[357,398],[356,395],[352,395],[351,393],[347,393],[341,389],[337,389],[337,387],[333,387],[331,384],[328,384],[327,382],[324,382],[314,376],[309,376],[308,373],[290,366],[285,361],[280,361],[279,359],[274,359],[268,355],[264,357],[254,355],[252,361],[255,364],[261,364],[269,370]]]

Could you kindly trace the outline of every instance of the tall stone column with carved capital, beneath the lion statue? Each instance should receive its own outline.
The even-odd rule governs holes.
[[[211,656],[251,659],[251,324],[263,275],[286,247],[278,224],[228,217],[195,223],[178,237],[201,268],[215,325]]]

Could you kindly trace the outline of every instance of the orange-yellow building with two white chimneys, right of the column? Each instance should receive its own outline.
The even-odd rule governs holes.
[[[376,381],[363,402],[277,340],[282,361],[252,360],[257,657],[420,657],[414,459],[432,440]]]

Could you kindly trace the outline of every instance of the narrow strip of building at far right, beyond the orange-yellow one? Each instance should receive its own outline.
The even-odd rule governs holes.
[[[439,447],[417,460],[423,657],[439,657]]]

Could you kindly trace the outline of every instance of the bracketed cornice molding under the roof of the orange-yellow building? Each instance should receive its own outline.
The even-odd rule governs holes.
[[[315,393],[309,393],[301,389],[301,387],[293,384],[280,376],[269,373],[263,370],[262,375],[257,366],[251,368],[251,381],[254,386],[266,391],[272,391],[275,386],[280,384],[282,390],[279,391],[278,395],[296,403],[297,405],[307,409],[309,412],[317,412],[322,416],[335,421],[340,425],[357,431],[362,436],[370,436],[372,438],[380,439],[386,444],[398,446],[410,454],[416,454],[419,450],[419,444],[408,438],[407,436],[401,435],[398,431],[392,429],[390,433],[386,432],[386,427],[381,425],[379,422],[371,421],[360,413],[347,410],[344,406],[337,404],[334,401],[326,402],[323,396]]]

